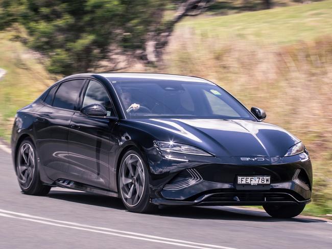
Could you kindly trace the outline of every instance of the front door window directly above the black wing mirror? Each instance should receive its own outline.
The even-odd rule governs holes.
[[[107,117],[114,117],[114,109],[112,102],[107,94],[106,89],[96,81],[90,81],[86,89],[86,93],[83,100],[82,108],[91,105],[100,104],[107,110]]]

